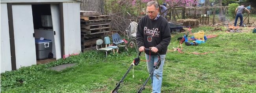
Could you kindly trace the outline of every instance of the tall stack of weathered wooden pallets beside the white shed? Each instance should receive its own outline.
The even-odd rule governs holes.
[[[80,11],[82,52],[96,49],[96,40],[110,31],[108,15],[94,11]]]

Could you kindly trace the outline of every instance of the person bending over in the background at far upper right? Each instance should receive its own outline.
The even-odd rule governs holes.
[[[234,23],[234,26],[236,27],[236,23],[237,23],[237,20],[238,20],[238,17],[240,18],[240,27],[242,26],[242,23],[243,23],[243,15],[242,15],[242,12],[243,10],[247,10],[248,13],[250,14],[250,11],[245,8],[245,4],[242,4],[241,6],[238,6],[235,10],[235,15],[236,15],[236,20],[235,20],[235,23]]]

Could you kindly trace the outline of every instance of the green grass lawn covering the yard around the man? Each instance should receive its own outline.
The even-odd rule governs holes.
[[[222,27],[225,30],[225,27]],[[213,27],[198,27],[205,35],[218,34],[198,46],[182,44],[182,52],[168,51],[163,68],[162,93],[256,93],[256,34],[210,31]],[[169,50],[177,48],[178,37],[172,34]],[[189,35],[191,37],[193,35]],[[181,46],[179,46],[180,48]],[[1,93],[110,93],[130,67],[135,48],[119,54],[89,51],[59,59],[49,64],[23,67],[1,73]],[[207,54],[189,54],[189,52]],[[210,53],[209,53],[210,52]],[[211,53],[214,52],[214,53]],[[142,53],[141,59],[145,59]],[[60,72],[48,67],[65,63],[76,66]],[[124,79],[122,93],[135,93],[148,77],[147,65],[141,61]],[[150,93],[150,80],[143,93]]]

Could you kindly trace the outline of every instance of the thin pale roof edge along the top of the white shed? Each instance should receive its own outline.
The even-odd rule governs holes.
[[[1,0],[1,3],[82,2],[82,0]]]

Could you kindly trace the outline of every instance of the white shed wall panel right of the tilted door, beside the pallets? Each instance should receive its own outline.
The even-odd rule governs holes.
[[[80,53],[80,3],[63,2],[65,55]]]

